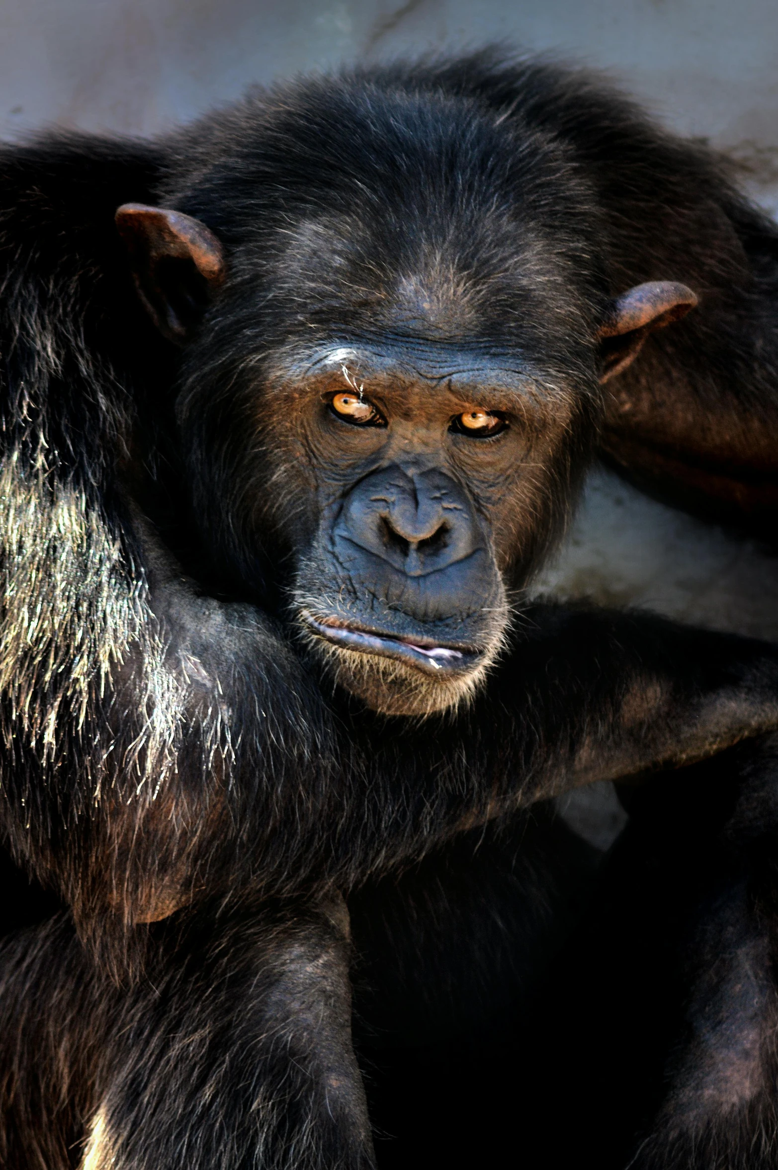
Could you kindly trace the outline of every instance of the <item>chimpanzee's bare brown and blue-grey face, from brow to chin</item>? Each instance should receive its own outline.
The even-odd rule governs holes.
[[[450,707],[500,651],[539,517],[544,535],[552,526],[574,400],[429,349],[415,370],[407,353],[400,366],[345,347],[307,365],[260,398],[287,420],[262,445],[274,495],[298,500],[305,484],[296,620],[373,709]]]

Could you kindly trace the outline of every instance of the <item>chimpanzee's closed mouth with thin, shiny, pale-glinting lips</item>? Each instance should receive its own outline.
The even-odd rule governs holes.
[[[353,622],[346,625],[340,618],[321,619],[310,613],[302,613],[301,617],[312,633],[333,646],[395,659],[435,677],[470,672],[483,658],[469,646],[442,646],[429,638],[379,633]]]

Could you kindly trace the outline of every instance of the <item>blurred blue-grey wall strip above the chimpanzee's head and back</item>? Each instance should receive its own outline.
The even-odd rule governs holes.
[[[605,68],[778,208],[778,0],[0,0],[0,136],[151,135],[250,82],[495,40]]]

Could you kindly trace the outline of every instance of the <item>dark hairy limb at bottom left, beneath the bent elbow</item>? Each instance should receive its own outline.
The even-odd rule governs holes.
[[[116,987],[67,915],[4,941],[4,1165],[374,1166],[342,900],[163,923],[146,973]]]

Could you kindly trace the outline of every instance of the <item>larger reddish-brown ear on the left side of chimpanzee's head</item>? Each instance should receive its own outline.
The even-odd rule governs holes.
[[[165,337],[183,345],[225,278],[221,243],[191,215],[144,204],[123,204],[116,226],[140,300]]]

